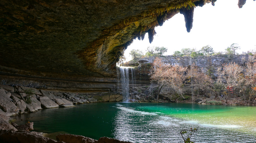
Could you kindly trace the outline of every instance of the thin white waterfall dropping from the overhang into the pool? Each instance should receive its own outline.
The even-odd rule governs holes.
[[[130,67],[118,67],[119,74],[117,75],[119,78],[119,82],[122,85],[122,95],[125,97],[125,102],[129,101],[129,83],[135,82],[135,70]],[[130,76],[130,78],[129,78]]]

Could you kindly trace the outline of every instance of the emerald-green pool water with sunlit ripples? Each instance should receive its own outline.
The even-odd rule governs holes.
[[[198,128],[197,143],[256,143],[256,107],[186,103],[87,103],[15,117],[34,131],[108,136],[134,143],[182,143],[180,131]]]

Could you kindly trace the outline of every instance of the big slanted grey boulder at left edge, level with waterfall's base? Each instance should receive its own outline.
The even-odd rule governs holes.
[[[6,113],[7,116],[12,116],[19,113],[19,108],[11,101],[5,99],[3,96],[0,96],[0,108]]]

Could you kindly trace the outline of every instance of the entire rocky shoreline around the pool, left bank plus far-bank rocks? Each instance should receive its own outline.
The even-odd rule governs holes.
[[[130,88],[129,102],[156,102],[154,92],[148,93],[150,87]],[[0,85],[0,141],[4,143],[129,143],[113,138],[102,137],[99,140],[81,135],[60,134],[56,140],[45,137],[45,133],[30,132],[33,123],[17,125],[11,122],[11,117],[17,114],[36,112],[43,108],[72,107],[75,104],[94,102],[122,102],[124,98],[119,94],[81,94],[49,92],[31,87]],[[158,102],[170,102],[170,97],[164,92]],[[180,103],[224,104],[223,98],[211,96],[193,96],[190,99],[176,101]],[[229,99],[229,104],[244,105],[241,99]],[[72,140],[72,141],[71,141]]]

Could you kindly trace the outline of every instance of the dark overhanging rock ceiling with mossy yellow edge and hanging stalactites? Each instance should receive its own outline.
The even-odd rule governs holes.
[[[115,75],[135,38],[182,13],[189,32],[194,7],[216,0],[0,1],[0,71],[54,78]],[[241,8],[245,0],[239,0]]]

